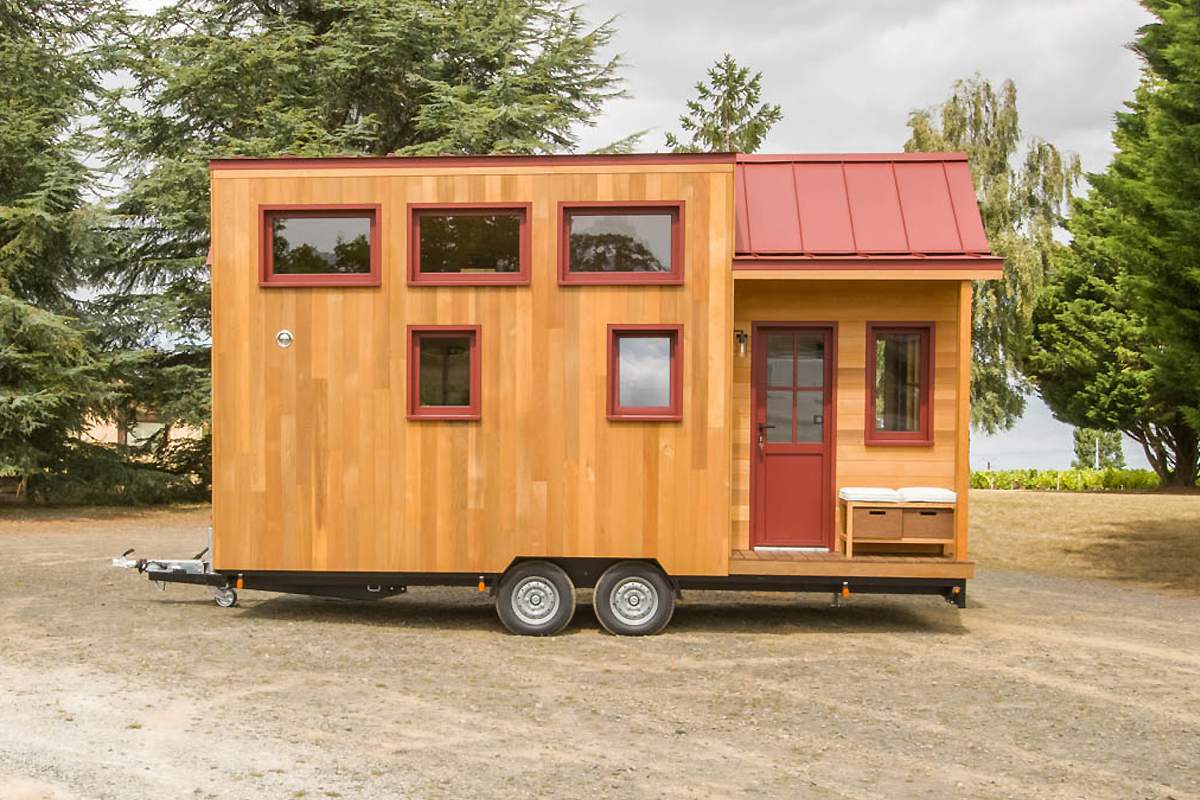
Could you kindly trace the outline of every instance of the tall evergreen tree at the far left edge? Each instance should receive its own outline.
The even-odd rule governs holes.
[[[0,474],[38,475],[104,403],[76,293],[103,252],[94,140],[104,4],[0,6]]]

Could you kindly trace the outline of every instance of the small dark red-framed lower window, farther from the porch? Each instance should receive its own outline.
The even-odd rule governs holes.
[[[409,325],[408,416],[478,420],[478,325]]]

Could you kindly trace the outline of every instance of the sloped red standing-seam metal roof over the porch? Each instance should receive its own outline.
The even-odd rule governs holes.
[[[960,152],[738,156],[739,260],[988,255]]]

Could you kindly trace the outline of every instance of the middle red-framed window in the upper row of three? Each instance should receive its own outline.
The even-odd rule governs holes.
[[[409,205],[410,283],[529,283],[529,205]]]

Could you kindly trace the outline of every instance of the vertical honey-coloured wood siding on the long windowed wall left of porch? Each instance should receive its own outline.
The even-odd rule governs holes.
[[[732,164],[216,170],[216,569],[726,575],[732,192]],[[683,200],[685,283],[560,287],[557,204],[595,200]],[[408,285],[408,204],[468,201],[532,203],[529,285]],[[298,203],[380,204],[382,285],[260,288],[258,207]],[[680,422],[605,419],[607,326],[634,323],[683,325]],[[480,326],[481,420],[406,419],[408,325]]]

